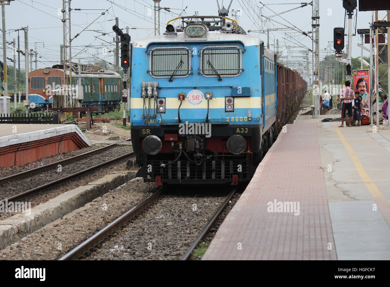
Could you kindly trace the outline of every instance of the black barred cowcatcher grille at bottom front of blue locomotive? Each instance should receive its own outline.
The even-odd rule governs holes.
[[[225,180],[230,181],[233,175],[241,180],[250,179],[248,160],[206,160],[199,166],[188,160],[178,160],[170,166],[161,167],[172,160],[148,160],[147,166],[152,171],[147,174],[153,180],[161,176],[161,180]]]

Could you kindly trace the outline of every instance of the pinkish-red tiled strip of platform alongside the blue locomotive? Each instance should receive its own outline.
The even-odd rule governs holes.
[[[300,214],[268,212],[274,200],[300,202]],[[287,125],[203,260],[335,259],[317,124]]]

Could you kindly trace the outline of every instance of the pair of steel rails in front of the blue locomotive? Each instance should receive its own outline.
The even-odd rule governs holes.
[[[213,214],[213,216],[209,219],[206,226],[202,229],[202,232],[197,236],[193,244],[191,244],[190,248],[186,251],[181,260],[187,260],[191,257],[192,251],[196,248],[199,242],[203,239],[203,237],[207,234],[209,229],[214,225],[218,216],[220,216],[221,212],[225,209],[226,205],[232,199],[236,190],[233,190],[229,193],[229,195],[225,198],[223,203],[218,207],[218,210]],[[152,203],[160,198],[163,194],[163,188],[160,188],[158,191],[153,193],[151,196],[146,198],[144,201],[139,203],[137,206],[133,207],[131,210],[123,214],[121,217],[118,217],[107,225],[105,228],[97,232],[95,235],[84,241],[82,244],[75,247],[73,250],[68,252],[66,255],[61,257],[59,260],[76,260],[78,258],[85,258],[83,255],[90,255],[91,252],[96,251],[98,248],[101,248],[105,241],[112,237],[112,234],[115,230],[119,228],[124,228],[126,222],[128,222],[133,217],[137,216],[140,212],[147,209]]]

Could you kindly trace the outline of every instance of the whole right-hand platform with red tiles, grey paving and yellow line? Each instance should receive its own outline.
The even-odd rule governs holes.
[[[330,117],[286,125],[202,260],[390,259],[390,130]]]

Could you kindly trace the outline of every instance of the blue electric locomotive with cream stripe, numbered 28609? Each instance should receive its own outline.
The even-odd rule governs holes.
[[[204,18],[133,42],[131,138],[145,182],[249,181],[275,141],[275,53],[222,17],[219,29]]]

